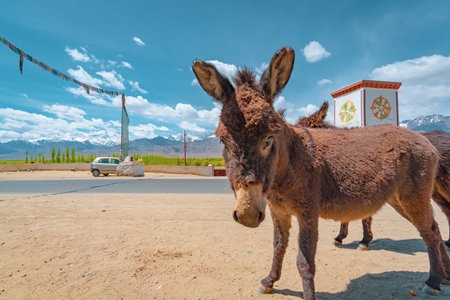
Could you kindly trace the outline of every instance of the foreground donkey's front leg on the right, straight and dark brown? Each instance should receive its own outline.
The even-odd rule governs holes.
[[[316,299],[314,286],[316,264],[314,259],[319,239],[319,216],[313,213],[303,213],[298,221],[300,231],[297,268],[302,277],[303,299],[314,300]]]

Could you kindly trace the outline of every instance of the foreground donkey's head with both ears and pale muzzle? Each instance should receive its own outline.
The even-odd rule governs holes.
[[[233,218],[248,227],[258,227],[265,217],[279,134],[286,126],[273,101],[289,81],[294,57],[293,49],[282,48],[259,82],[254,73],[243,69],[234,77],[234,86],[214,65],[200,60],[192,65],[202,88],[223,104],[216,135],[224,144],[227,175],[236,197]]]

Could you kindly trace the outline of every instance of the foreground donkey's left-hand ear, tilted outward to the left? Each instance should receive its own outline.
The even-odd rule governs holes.
[[[192,70],[200,86],[217,101],[225,103],[234,93],[231,82],[227,77],[220,74],[214,65],[201,60],[194,60]]]

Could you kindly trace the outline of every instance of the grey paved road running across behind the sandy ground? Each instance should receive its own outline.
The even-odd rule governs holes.
[[[230,194],[227,179],[0,180],[0,194]]]

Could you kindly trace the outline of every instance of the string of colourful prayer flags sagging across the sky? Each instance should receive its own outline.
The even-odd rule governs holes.
[[[94,91],[94,92],[97,92],[97,93],[100,93],[100,94],[108,94],[108,95],[113,95],[113,96],[118,96],[118,95],[119,95],[119,92],[114,92],[114,91],[108,91],[108,90],[104,90],[104,89],[99,89],[99,88],[97,88],[97,87],[87,85],[87,84],[85,84],[85,83],[83,83],[83,82],[81,82],[81,81],[76,80],[75,78],[72,78],[72,77],[70,77],[70,76],[67,76],[67,75],[64,74],[64,73],[59,72],[58,70],[56,70],[56,69],[54,69],[54,68],[52,68],[52,67],[50,67],[50,66],[44,64],[43,62],[41,62],[41,61],[35,59],[35,58],[32,57],[31,55],[26,54],[25,52],[23,52],[22,50],[20,50],[19,48],[17,48],[16,46],[14,46],[13,44],[11,44],[10,42],[8,42],[8,40],[6,40],[5,38],[3,38],[2,36],[0,36],[0,41],[1,41],[3,44],[5,44],[6,46],[8,46],[9,49],[11,49],[11,51],[13,51],[14,53],[19,54],[19,56],[20,56],[20,57],[19,57],[19,69],[20,69],[20,73],[21,73],[21,74],[22,74],[22,69],[23,69],[23,58],[25,57],[26,59],[28,59],[28,60],[31,61],[32,63],[34,63],[34,64],[40,66],[40,67],[41,67],[42,69],[44,69],[45,71],[50,72],[50,73],[52,73],[53,75],[62,78],[63,80],[67,80],[67,81],[70,81],[70,82],[73,82],[73,83],[76,83],[76,84],[82,86],[82,87],[86,90],[86,93],[88,93],[88,94],[89,94],[89,91]],[[123,95],[123,93],[122,93],[122,95]]]

